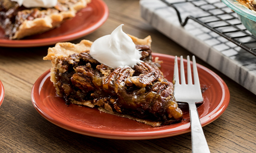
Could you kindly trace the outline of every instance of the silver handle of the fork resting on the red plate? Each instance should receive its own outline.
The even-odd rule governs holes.
[[[192,153],[210,153],[195,103],[189,102]]]

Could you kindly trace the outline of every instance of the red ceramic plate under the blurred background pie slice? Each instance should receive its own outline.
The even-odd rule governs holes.
[[[0,46],[35,47],[75,40],[95,31],[107,18],[108,6],[102,0],[92,0],[86,8],[76,14],[76,17],[43,34],[29,36],[22,40],[9,40],[5,38],[4,31],[0,28]]]

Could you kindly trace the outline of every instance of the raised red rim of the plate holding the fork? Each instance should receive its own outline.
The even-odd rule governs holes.
[[[153,53],[154,57],[160,57],[160,60],[162,57],[169,57],[171,59],[174,59],[173,56],[171,55],[165,55],[165,54],[158,54],[158,53]],[[184,60],[185,61],[185,60]],[[220,106],[218,108],[215,108],[215,110],[213,111],[217,111],[218,113],[215,116],[210,116],[210,119],[204,119],[209,117],[210,114],[207,114],[206,116],[203,116],[201,118],[201,123],[202,126],[208,125],[209,123],[213,122],[215,119],[217,119],[227,108],[229,100],[230,100],[230,94],[229,94],[229,90],[227,88],[227,85],[225,84],[225,82],[214,72],[212,72],[211,70],[209,70],[208,68],[205,68],[202,65],[197,64],[198,68],[203,69],[204,71],[207,71],[209,74],[211,74],[218,82],[219,85],[221,85],[221,89],[222,89],[222,93],[224,93],[224,95],[222,96],[221,102],[220,102]],[[38,78],[38,81],[42,81],[42,79],[46,79],[47,74],[49,75],[49,70],[47,72],[45,72],[44,74],[41,75],[41,77]],[[84,131],[78,130],[76,126],[70,126],[70,125],[65,125],[62,122],[56,122],[56,120],[52,119],[51,116],[48,116],[47,114],[45,114],[44,112],[42,112],[40,110],[40,108],[37,107],[36,104],[36,100],[35,100],[35,95],[34,95],[34,91],[38,91],[39,88],[35,89],[35,85],[33,85],[32,88],[32,103],[34,105],[34,107],[36,108],[36,110],[44,117],[46,118],[48,121],[52,122],[55,125],[58,125],[59,127],[62,127],[64,129],[76,132],[76,133],[80,133],[80,134],[84,134],[87,136],[95,136],[95,137],[100,137],[100,138],[107,138],[107,139],[129,139],[129,140],[135,140],[135,139],[157,139],[157,138],[164,138],[164,137],[169,137],[169,136],[176,136],[179,134],[183,134],[183,133],[187,133],[190,132],[190,125],[187,124],[186,125],[186,129],[184,130],[179,130],[177,127],[176,130],[172,131],[172,133],[168,133],[168,129],[165,130],[160,130],[160,131],[154,131],[154,133],[152,134],[150,131],[149,132],[139,132],[139,133],[133,133],[133,132],[129,132],[127,131],[125,133],[125,136],[120,136],[123,135],[123,131],[106,131],[106,130],[101,130],[101,129],[96,129],[95,131],[93,131],[93,129],[90,129],[90,131],[86,131],[86,133],[84,133]],[[225,103],[223,103],[225,101]],[[154,127],[152,127],[154,128]],[[172,129],[173,130],[173,129]],[[108,133],[109,132],[109,133]]]

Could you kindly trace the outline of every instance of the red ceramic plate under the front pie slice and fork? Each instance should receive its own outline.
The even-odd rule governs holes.
[[[161,70],[165,77],[172,81],[174,57],[165,54],[153,55],[163,60]],[[205,126],[226,110],[230,94],[227,85],[218,75],[202,65],[197,66],[201,86],[207,87],[203,93],[204,103],[198,105],[201,124]],[[94,108],[73,104],[65,105],[64,100],[55,94],[49,71],[35,82],[31,97],[36,110],[44,118],[64,129],[88,136],[108,139],[155,139],[190,132],[187,107],[182,107],[185,119],[182,122],[151,127],[131,119],[101,113]]]

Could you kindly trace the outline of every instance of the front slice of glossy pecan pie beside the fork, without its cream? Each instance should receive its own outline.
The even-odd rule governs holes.
[[[96,107],[100,111],[134,119],[151,126],[180,122],[183,113],[173,96],[173,85],[152,62],[151,37],[129,35],[143,62],[113,69],[90,56],[93,42],[57,43],[48,49],[51,81],[66,103]]]

